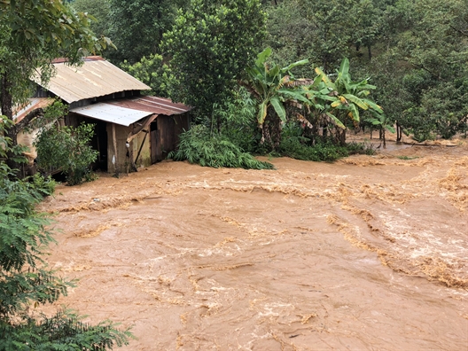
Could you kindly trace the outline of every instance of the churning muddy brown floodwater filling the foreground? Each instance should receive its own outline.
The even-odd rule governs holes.
[[[122,350],[467,350],[468,146],[59,186],[58,305]]]

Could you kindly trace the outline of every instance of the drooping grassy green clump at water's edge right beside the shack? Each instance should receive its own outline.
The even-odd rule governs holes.
[[[168,159],[188,160],[190,163],[213,168],[273,169],[269,162],[256,160],[250,153],[243,152],[224,136],[210,136],[204,126],[194,126],[180,136],[175,152]]]

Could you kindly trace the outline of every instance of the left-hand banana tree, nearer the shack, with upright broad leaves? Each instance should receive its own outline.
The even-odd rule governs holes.
[[[307,64],[308,59],[280,67],[268,61],[270,55],[270,48],[261,51],[254,65],[246,70],[247,80],[241,83],[246,86],[259,103],[257,123],[262,130],[261,143],[267,138],[275,147],[279,144],[281,123],[286,121],[285,102],[290,99],[308,102],[304,95],[294,91],[294,78],[290,72],[295,66]],[[269,109],[270,106],[273,109]],[[265,128],[266,122],[270,122],[269,130]],[[276,140],[272,140],[272,132],[277,134]]]

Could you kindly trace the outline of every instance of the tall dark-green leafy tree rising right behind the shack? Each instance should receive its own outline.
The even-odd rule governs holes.
[[[265,13],[258,0],[191,0],[164,35],[161,49],[170,58],[170,97],[192,105],[199,120],[217,121],[214,104],[230,96],[265,35]]]

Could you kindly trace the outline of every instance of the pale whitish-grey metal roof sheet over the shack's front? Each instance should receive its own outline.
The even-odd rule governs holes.
[[[100,121],[108,121],[129,127],[130,124],[153,114],[151,112],[134,110],[119,105],[98,103],[85,107],[77,107],[70,112],[82,114],[83,116],[95,118]]]

